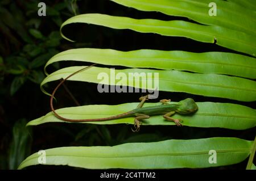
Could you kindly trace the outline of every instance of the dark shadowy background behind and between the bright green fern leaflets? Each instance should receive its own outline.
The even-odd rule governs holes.
[[[234,131],[222,128],[192,128],[147,126],[134,133],[131,125],[90,125],[47,123],[24,129],[31,120],[50,112],[49,96],[40,91],[44,64],[54,54],[71,48],[109,48],[117,50],[159,49],[191,52],[233,52],[216,44],[206,44],[184,37],[167,37],[154,33],[114,30],[100,26],[71,24],[64,34],[76,43],[61,39],[60,24],[71,16],[101,13],[143,19],[187,20],[159,12],[143,12],[107,0],[44,1],[47,16],[38,16],[40,1],[0,2],[0,169],[16,169],[19,161],[38,150],[60,146],[117,145],[125,142],[150,142],[167,139],[194,139],[208,137],[238,137],[254,140],[255,128]],[[1,61],[2,60],[2,61]],[[53,71],[66,66],[90,65],[85,62],[61,62],[49,66]],[[102,65],[97,65],[102,66]],[[105,66],[106,67],[106,66]],[[115,67],[122,69],[123,67]],[[57,81],[49,83],[52,91]],[[141,93],[103,93],[94,83],[67,81],[65,85],[80,105],[122,104],[138,102]],[[255,102],[246,103],[229,99],[210,98],[180,92],[159,92],[160,99],[179,101],[191,97],[196,102],[229,102],[255,108]],[[56,93],[55,108],[77,106],[68,92],[61,87]],[[157,101],[157,100],[155,100]],[[27,137],[22,137],[26,134]],[[18,136],[17,136],[18,135]],[[16,136],[16,138],[15,138]],[[18,137],[18,138],[17,138]],[[23,139],[23,145],[18,142]],[[245,169],[247,159],[232,166],[217,169]],[[67,166],[32,166],[28,169],[73,169]],[[215,168],[216,169],[216,168]]]

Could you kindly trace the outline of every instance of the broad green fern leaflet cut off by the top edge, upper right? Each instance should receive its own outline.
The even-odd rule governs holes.
[[[158,11],[171,16],[183,16],[201,24],[214,25],[256,35],[255,12],[228,1],[216,0],[216,16],[210,16],[212,0],[111,0],[142,11]],[[239,0],[238,0],[239,1]],[[244,2],[242,2],[244,3]],[[255,2],[254,2],[255,4]],[[252,24],[252,22],[254,22]]]

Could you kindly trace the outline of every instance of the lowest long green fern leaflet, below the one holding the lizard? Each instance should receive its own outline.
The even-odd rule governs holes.
[[[68,165],[85,169],[174,169],[204,168],[242,162],[250,153],[252,141],[214,137],[197,140],[166,140],[127,143],[117,146],[61,147],[47,149],[46,165]],[[216,163],[210,150],[217,153]],[[42,155],[27,157],[19,169],[39,165]]]

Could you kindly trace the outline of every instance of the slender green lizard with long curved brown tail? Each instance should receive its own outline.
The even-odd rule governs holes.
[[[93,64],[96,65],[96,64]],[[91,66],[93,66],[91,65]],[[133,131],[139,131],[140,125],[141,125],[141,121],[143,119],[148,119],[150,118],[151,115],[159,115],[159,114],[164,114],[163,117],[168,120],[168,121],[174,121],[174,123],[177,126],[181,126],[181,119],[174,119],[172,117],[170,117],[171,115],[174,115],[175,113],[179,113],[179,114],[189,114],[189,113],[193,113],[196,112],[198,107],[195,103],[195,101],[191,98],[187,98],[184,100],[181,100],[178,103],[169,103],[171,100],[167,100],[167,99],[162,99],[160,100],[160,102],[162,103],[162,105],[159,106],[150,106],[150,107],[142,107],[144,102],[148,99],[150,99],[150,95],[146,95],[146,96],[142,96],[141,98],[139,98],[139,100],[141,100],[141,103],[138,104],[137,108],[135,108],[134,110],[125,112],[125,113],[121,113],[119,115],[115,115],[115,116],[111,116],[111,117],[104,117],[104,118],[98,118],[98,119],[68,119],[65,117],[60,116],[53,108],[53,97],[54,94],[56,92],[56,90],[63,84],[64,81],[66,81],[69,77],[71,77],[72,75],[75,75],[76,73],[79,73],[82,70],[88,69],[91,66],[88,66],[86,68],[83,68],[79,71],[76,71],[75,73],[72,73],[71,75],[69,75],[67,78],[63,79],[63,81],[61,81],[59,83],[59,85],[56,86],[55,90],[53,90],[52,95],[51,95],[51,100],[50,100],[50,106],[51,106],[51,110],[54,113],[54,115],[64,121],[69,121],[69,122],[85,122],[85,121],[108,121],[108,120],[114,120],[114,119],[119,119],[122,117],[131,117],[134,116],[134,127],[135,130]]]

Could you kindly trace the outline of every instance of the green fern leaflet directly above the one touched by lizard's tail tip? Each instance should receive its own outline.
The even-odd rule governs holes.
[[[53,62],[66,60],[89,61],[130,68],[187,70],[196,73],[228,74],[251,79],[256,78],[255,58],[223,52],[192,53],[150,49],[121,52],[113,49],[79,48],[56,54],[47,62],[45,69]]]

